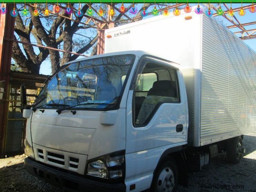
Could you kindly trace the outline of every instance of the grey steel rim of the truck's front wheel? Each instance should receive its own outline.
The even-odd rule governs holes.
[[[165,167],[157,180],[157,192],[172,192],[175,186],[174,174],[170,167]]]

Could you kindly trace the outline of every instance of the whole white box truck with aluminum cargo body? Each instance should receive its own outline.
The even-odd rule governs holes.
[[[31,109],[21,87],[29,173],[69,190],[174,192],[219,151],[240,161],[256,128],[256,53],[218,21],[115,27],[105,53],[65,64]]]

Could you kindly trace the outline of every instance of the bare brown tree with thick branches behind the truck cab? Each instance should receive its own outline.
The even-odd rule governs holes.
[[[74,4],[70,5],[74,6]],[[65,6],[65,4],[63,6]],[[98,5],[95,4],[95,7],[97,6]],[[128,7],[127,11],[131,6],[132,4]],[[149,3],[145,4],[146,9],[149,6]],[[23,9],[23,6],[20,5],[18,9],[19,8],[21,10]],[[88,8],[89,7],[87,4],[83,4],[81,10],[86,13]],[[142,9],[143,8],[141,8],[141,10]],[[34,11],[34,8],[29,7],[29,11],[30,13],[32,13]],[[65,15],[65,12],[62,10],[60,14]],[[139,14],[140,13],[138,13],[137,16],[139,16]],[[112,19],[115,21],[121,20],[122,16],[123,15],[120,13]],[[82,21],[82,19],[85,18],[78,17],[77,19],[79,21]],[[140,19],[142,18],[139,18],[138,20]],[[88,30],[90,30],[90,28],[85,28],[84,26],[79,25],[79,22],[73,22],[70,19],[59,16],[40,15],[38,17],[35,17],[31,15],[30,17],[24,17],[20,16],[20,14],[18,14],[16,18],[16,24],[14,29],[16,37],[19,38],[22,42],[31,43],[33,40],[36,40],[36,43],[38,45],[43,45],[55,49],[61,48],[66,51],[74,51],[75,49],[77,53],[81,54],[92,48],[91,54],[93,55],[97,53],[97,32],[95,32],[94,37],[83,38],[86,39],[83,41],[81,40],[82,38],[74,39],[74,35],[84,36],[84,31]],[[77,44],[79,46],[75,47],[74,44]],[[35,48],[31,45],[20,45],[19,43],[14,42],[12,49],[12,58],[22,71],[38,74],[40,65],[47,58],[49,58],[51,62],[52,72],[55,72],[60,67],[60,65],[68,61],[77,59],[78,55],[71,55],[70,53],[63,53],[62,55],[60,55],[58,51],[44,48],[39,48],[38,51],[35,50]]]

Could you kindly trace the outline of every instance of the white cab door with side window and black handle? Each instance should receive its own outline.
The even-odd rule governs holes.
[[[170,62],[145,56],[132,85],[127,101],[126,153],[186,144],[187,98],[180,71]]]

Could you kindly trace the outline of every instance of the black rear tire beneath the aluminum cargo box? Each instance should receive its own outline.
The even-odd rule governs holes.
[[[227,141],[227,160],[230,163],[237,164],[243,156],[243,140],[239,137],[231,138]]]

